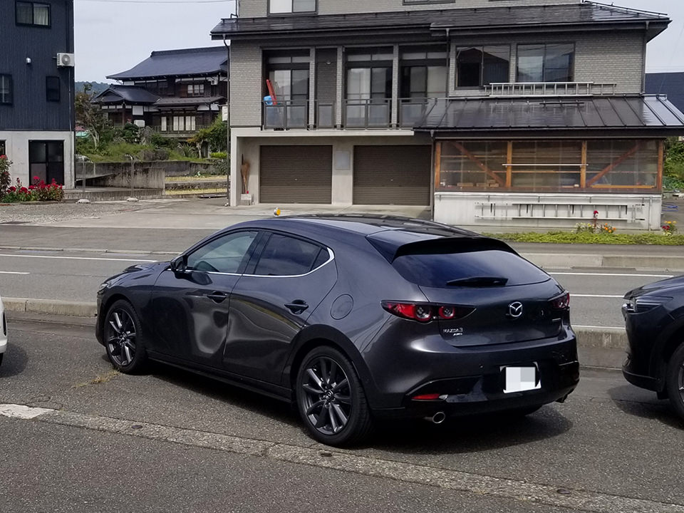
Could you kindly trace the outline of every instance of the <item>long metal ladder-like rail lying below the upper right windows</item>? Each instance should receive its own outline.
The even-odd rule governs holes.
[[[484,86],[489,96],[593,96],[613,95],[617,84],[594,82],[502,82]]]

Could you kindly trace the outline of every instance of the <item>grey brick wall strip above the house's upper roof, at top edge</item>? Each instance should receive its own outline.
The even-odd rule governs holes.
[[[424,11],[425,9],[469,9],[472,7],[579,4],[580,0],[455,0],[444,4],[404,5],[403,0],[318,0],[318,14]],[[241,18],[267,16],[269,0],[239,0]]]

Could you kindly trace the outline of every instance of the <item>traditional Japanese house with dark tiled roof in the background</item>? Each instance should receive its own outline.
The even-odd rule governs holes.
[[[153,51],[120,81],[95,98],[115,125],[150,126],[169,137],[187,138],[211,125],[227,97],[224,46]]]

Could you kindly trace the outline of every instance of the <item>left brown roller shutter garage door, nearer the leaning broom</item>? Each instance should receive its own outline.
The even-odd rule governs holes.
[[[261,146],[259,202],[331,203],[332,146]]]

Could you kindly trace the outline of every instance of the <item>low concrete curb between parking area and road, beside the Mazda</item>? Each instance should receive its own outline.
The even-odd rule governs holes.
[[[3,298],[5,310],[20,314],[41,314],[95,318],[97,304],[89,301],[53,299]],[[36,319],[35,316],[33,320]],[[584,367],[621,368],[627,348],[627,334],[622,328],[574,328],[577,335],[579,361]]]

